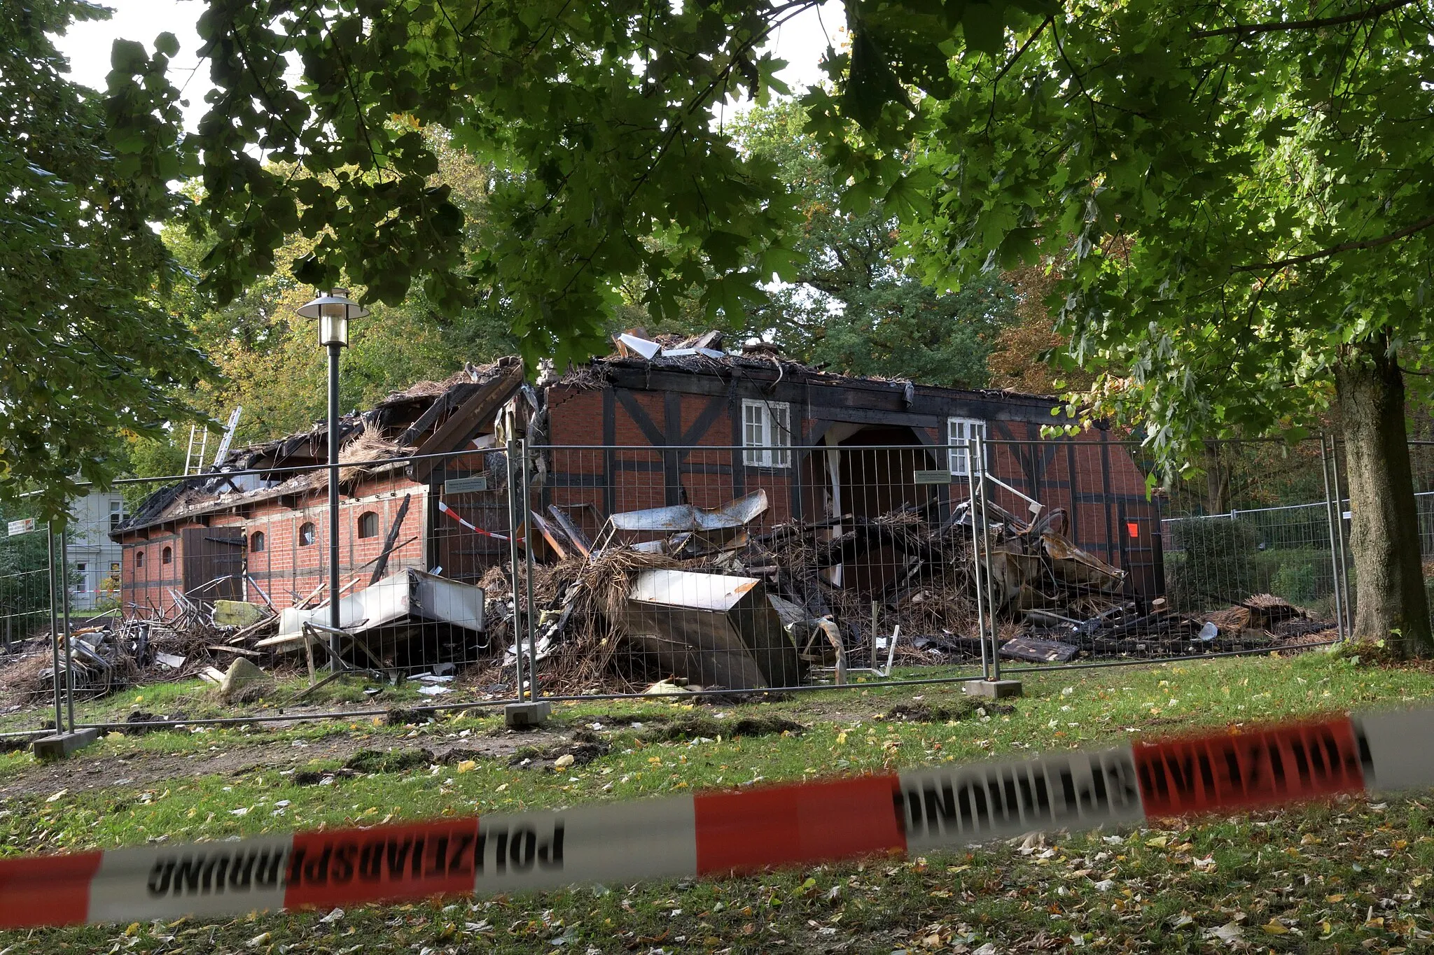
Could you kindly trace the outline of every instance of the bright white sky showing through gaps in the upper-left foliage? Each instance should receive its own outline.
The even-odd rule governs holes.
[[[209,90],[209,67],[199,64],[195,56],[199,37],[194,24],[205,7],[202,0],[109,0],[108,6],[115,10],[109,20],[77,23],[66,36],[56,37],[56,46],[70,59],[70,76],[103,90],[110,43],[123,37],[138,40],[152,50],[155,37],[168,30],[179,39],[179,54],[169,67],[171,80],[184,86],[185,99],[189,100],[185,116],[194,126],[204,115],[204,94]],[[806,10],[779,27],[769,49],[787,60],[789,66],[780,77],[793,92],[823,77],[817,63],[826,50],[827,37],[839,46],[837,33],[845,23],[840,0],[826,0],[819,10]],[[191,79],[189,73],[196,66],[199,69]]]

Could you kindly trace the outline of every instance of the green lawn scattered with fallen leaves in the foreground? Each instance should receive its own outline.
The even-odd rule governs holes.
[[[3,853],[371,825],[1050,752],[1136,733],[1427,702],[1434,673],[1309,653],[1025,674],[1025,690],[1008,713],[982,712],[952,686],[870,686],[718,707],[578,703],[556,707],[555,719],[568,737],[585,730],[578,739],[546,735],[529,750],[503,757],[465,755],[480,737],[523,743],[505,735],[496,714],[445,716],[419,726],[363,719],[277,732],[116,735],[82,755],[86,762],[116,760],[112,779],[136,757],[184,760],[241,746],[260,753],[282,747],[287,756],[295,745],[343,739],[350,749],[374,752],[317,759],[287,775],[261,765],[242,776],[181,773],[142,789],[118,785],[11,798],[0,808]],[[918,716],[928,722],[886,719],[896,704],[926,707]],[[149,709],[149,700],[138,706]],[[757,724],[746,735],[733,733],[741,719]],[[452,755],[443,760],[446,752]],[[595,759],[555,772],[552,759],[564,752]],[[344,763],[351,769],[343,770]],[[0,756],[0,782],[34,772],[24,753]],[[1045,833],[1044,842],[1024,848],[999,843],[971,853],[868,859],[728,881],[581,886],[337,916],[301,912],[0,934],[0,955],[989,954],[1074,945],[1427,951],[1434,929],[1423,901],[1434,866],[1431,826],[1434,809],[1425,798],[1347,800],[1139,832]]]

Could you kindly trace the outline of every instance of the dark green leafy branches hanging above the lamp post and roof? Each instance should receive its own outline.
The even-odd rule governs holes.
[[[199,160],[195,223],[217,236],[204,286],[219,302],[298,233],[315,243],[301,282],[344,278],[389,304],[422,283],[450,311],[482,288],[531,354],[584,355],[622,276],[644,276],[655,321],[674,292],[697,289],[713,314],[761,296],[771,275],[750,263],[782,261],[790,203],[713,109],[783,89],[756,50],[806,6],[211,0],[209,112],[194,136],[145,142]],[[139,67],[116,59],[110,90],[143,119],[168,84]],[[433,127],[492,163],[476,231],[433,180]]]

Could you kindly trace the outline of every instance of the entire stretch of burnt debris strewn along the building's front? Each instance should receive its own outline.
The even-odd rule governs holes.
[[[62,634],[60,660],[73,657],[73,686],[90,696],[189,676],[221,683],[235,660],[268,664],[295,651],[313,676],[315,647],[367,672],[436,667],[432,694],[449,692],[455,663],[485,653],[493,660],[480,684],[512,686],[519,663],[536,663],[546,692],[751,690],[802,684],[813,669],[840,680],[855,669],[886,674],[893,660],[981,659],[989,646],[975,637],[978,617],[991,611],[999,654],[1043,663],[1292,646],[1326,629],[1269,594],[1206,614],[1133,596],[1123,570],[1065,537],[1061,508],[1032,503],[1021,518],[987,504],[981,521],[969,503],[938,507],[757,533],[769,511],[759,490],[718,508],[612,514],[592,538],[551,507],[518,533],[528,540],[531,528],[556,557],[533,564],[532,581],[525,570],[512,581],[500,566],[479,586],[396,568],[341,596],[338,630],[327,626],[328,607],[314,606],[317,591],[282,611],[171,591],[163,613],[133,607],[125,620],[75,630],[72,647]],[[515,583],[519,594],[531,584],[531,640]],[[47,640],[33,657],[24,686],[46,696]],[[11,694],[19,674],[11,667],[3,680]]]

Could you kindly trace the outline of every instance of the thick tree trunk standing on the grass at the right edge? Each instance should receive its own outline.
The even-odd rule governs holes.
[[[1398,656],[1430,656],[1414,480],[1404,427],[1404,375],[1384,335],[1345,348],[1335,388],[1349,477],[1354,636]]]

